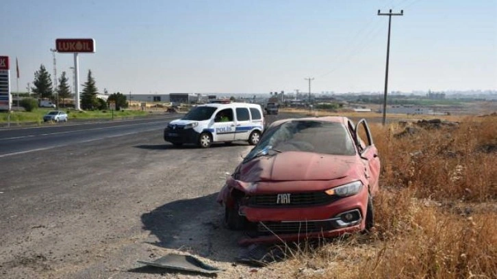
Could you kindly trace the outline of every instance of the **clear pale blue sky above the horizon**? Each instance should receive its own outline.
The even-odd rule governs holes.
[[[497,0],[2,0],[0,55],[11,88],[53,74],[57,38],[94,38],[79,54],[100,92],[125,94],[497,90]],[[72,79],[73,54],[56,53]],[[12,70],[13,69],[13,70]]]

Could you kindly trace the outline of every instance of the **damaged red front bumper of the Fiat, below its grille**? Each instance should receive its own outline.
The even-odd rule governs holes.
[[[246,217],[252,230],[249,232],[251,237],[242,239],[240,244],[299,241],[355,233],[366,226],[367,202],[368,190],[363,187],[354,196],[312,207],[241,206],[240,215]]]

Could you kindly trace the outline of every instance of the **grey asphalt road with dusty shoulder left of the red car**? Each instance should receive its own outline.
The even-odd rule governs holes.
[[[175,148],[175,117],[0,130],[0,278],[162,278],[136,261],[175,251],[248,273],[215,199],[251,146]]]

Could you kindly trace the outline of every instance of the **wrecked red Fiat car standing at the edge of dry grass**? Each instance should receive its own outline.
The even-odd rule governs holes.
[[[379,170],[366,120],[280,120],[227,178],[217,200],[228,228],[249,235],[241,244],[335,237],[372,228]]]

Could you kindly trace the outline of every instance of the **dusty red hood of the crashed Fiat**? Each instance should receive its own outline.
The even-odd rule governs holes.
[[[328,181],[357,170],[357,157],[311,152],[281,152],[242,163],[240,181]]]

